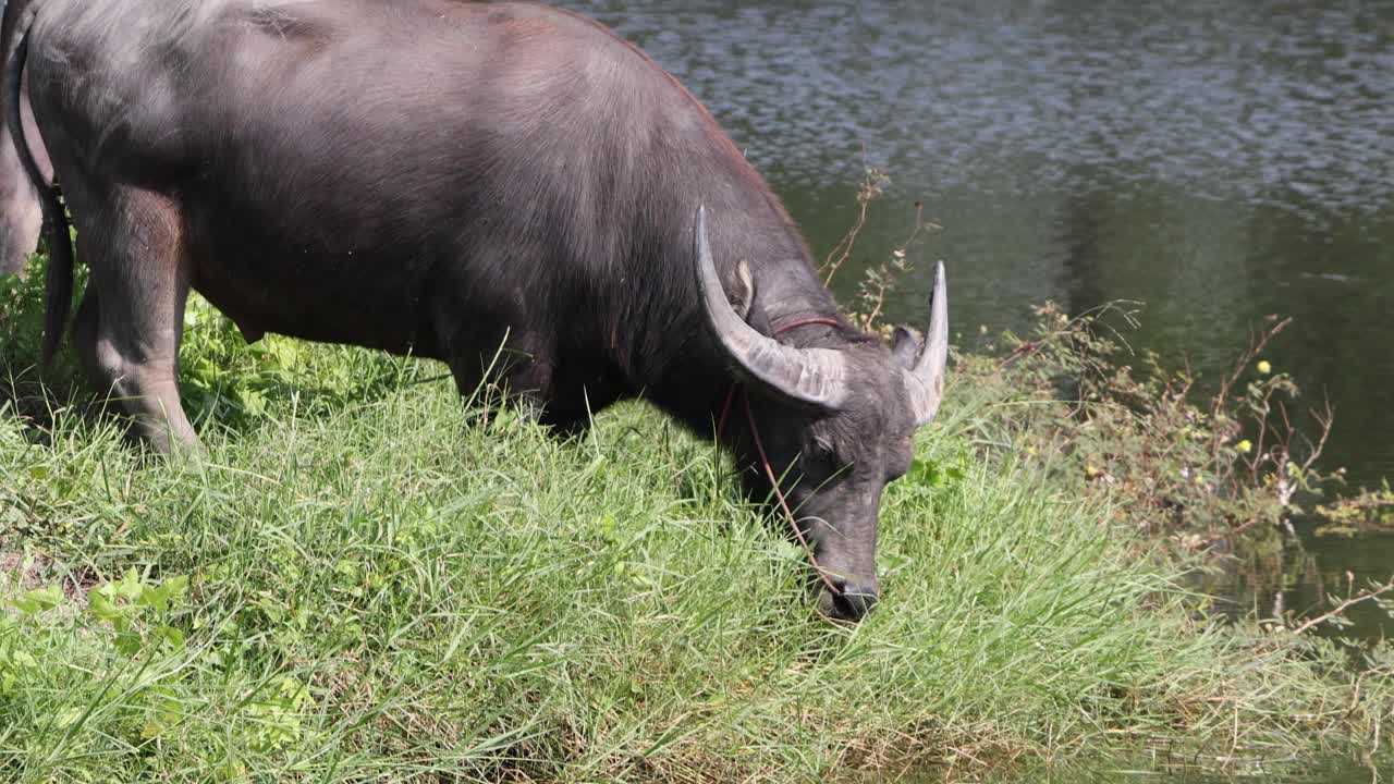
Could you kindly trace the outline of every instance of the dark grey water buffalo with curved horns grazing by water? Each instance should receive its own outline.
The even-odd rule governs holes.
[[[447,0],[11,0],[0,45],[52,227],[45,356],[72,257],[21,75],[91,268],[78,353],[151,445],[197,445],[191,287],[248,339],[434,357],[464,392],[502,346],[500,381],[563,431],[640,395],[723,420],[747,488],[795,511],[820,607],[875,601],[881,491],[940,405],[942,271],[926,339],[857,332],[761,177],[634,46]]]

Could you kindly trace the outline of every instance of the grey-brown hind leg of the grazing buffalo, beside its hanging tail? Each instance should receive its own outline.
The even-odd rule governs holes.
[[[159,452],[201,446],[178,399],[178,346],[188,299],[180,216],[164,197],[123,190],[79,223],[91,269],[74,343],[92,382],[131,416]]]

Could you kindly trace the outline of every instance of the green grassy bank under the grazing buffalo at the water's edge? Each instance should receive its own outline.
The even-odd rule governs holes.
[[[1136,525],[1107,449],[1062,437],[1058,363],[958,357],[884,499],[884,600],[850,628],[810,611],[800,552],[711,444],[641,405],[560,444],[461,405],[441,365],[241,346],[198,307],[184,386],[210,458],[176,465],[64,388],[71,359],[39,389],[36,283],[8,286],[3,780],[793,781],[1111,752],[1255,771],[1387,746],[1394,657],[1356,674],[1207,619],[1174,547],[1199,534]]]

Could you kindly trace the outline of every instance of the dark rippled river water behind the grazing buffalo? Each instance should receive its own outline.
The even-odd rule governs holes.
[[[942,230],[913,252],[921,275],[945,259],[966,343],[1047,299],[1139,300],[1131,342],[1214,382],[1250,326],[1291,315],[1264,359],[1330,398],[1324,465],[1394,477],[1394,1],[565,4],[677,75],[815,254],[850,226],[864,163],[885,167],[853,264],[885,259],[923,201]],[[926,290],[889,314],[923,319]],[[1238,604],[1320,607],[1347,572],[1394,573],[1394,533],[1298,530],[1281,579],[1234,580]],[[1394,633],[1354,617],[1347,633]]]

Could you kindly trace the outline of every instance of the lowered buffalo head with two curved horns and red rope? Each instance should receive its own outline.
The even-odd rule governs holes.
[[[824,585],[832,587],[822,589],[818,608],[856,621],[880,596],[881,491],[909,470],[914,431],[934,419],[944,391],[944,265],[935,269],[930,331],[923,340],[913,331],[896,329],[889,347],[864,335],[846,335],[825,347],[795,347],[756,329],[747,314],[732,307],[707,241],[705,209],[697,213],[696,258],[707,325],[751,391],[750,420],[827,578]],[[735,300],[749,306],[757,282],[744,264],[733,286]],[[769,492],[761,470],[744,476],[757,494]]]

